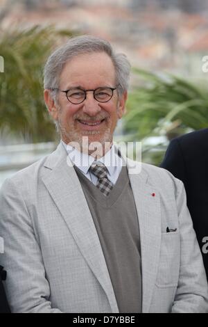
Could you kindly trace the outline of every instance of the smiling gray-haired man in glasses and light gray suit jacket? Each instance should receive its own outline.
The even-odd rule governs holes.
[[[12,312],[208,311],[182,182],[113,143],[129,73],[125,56],[89,35],[46,63],[44,99],[62,141],[0,196]]]

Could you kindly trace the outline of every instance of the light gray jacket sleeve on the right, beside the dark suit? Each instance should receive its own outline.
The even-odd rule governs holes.
[[[177,211],[180,226],[180,277],[172,312],[208,312],[208,286],[202,255],[187,208],[186,193],[177,180]]]

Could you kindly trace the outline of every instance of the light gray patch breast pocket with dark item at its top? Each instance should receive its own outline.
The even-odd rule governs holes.
[[[180,272],[180,233],[162,233],[156,285],[177,286]]]

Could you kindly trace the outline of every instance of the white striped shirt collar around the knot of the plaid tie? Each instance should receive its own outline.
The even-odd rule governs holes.
[[[94,161],[103,163],[110,175],[114,173],[114,169],[116,166],[122,166],[122,160],[118,156],[118,154],[116,154],[114,144],[112,145],[110,150],[107,151],[107,153],[98,160],[95,160],[94,157],[90,156],[89,154],[76,150],[76,148],[72,147],[71,145],[67,145],[66,143],[64,143],[64,141],[62,141],[62,144],[67,150],[69,158],[71,159],[73,164],[77,168],[79,168],[85,175],[87,174],[90,166]]]

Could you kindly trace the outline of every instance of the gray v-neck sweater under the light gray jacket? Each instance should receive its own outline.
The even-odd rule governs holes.
[[[141,312],[141,246],[135,200],[123,166],[109,196],[104,196],[74,166],[101,242],[119,312]]]

